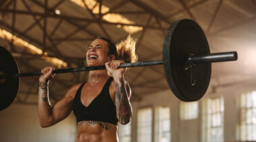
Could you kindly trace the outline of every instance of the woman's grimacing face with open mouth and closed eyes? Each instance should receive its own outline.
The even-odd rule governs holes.
[[[104,65],[109,59],[107,42],[102,39],[94,40],[86,53],[88,66]]]

